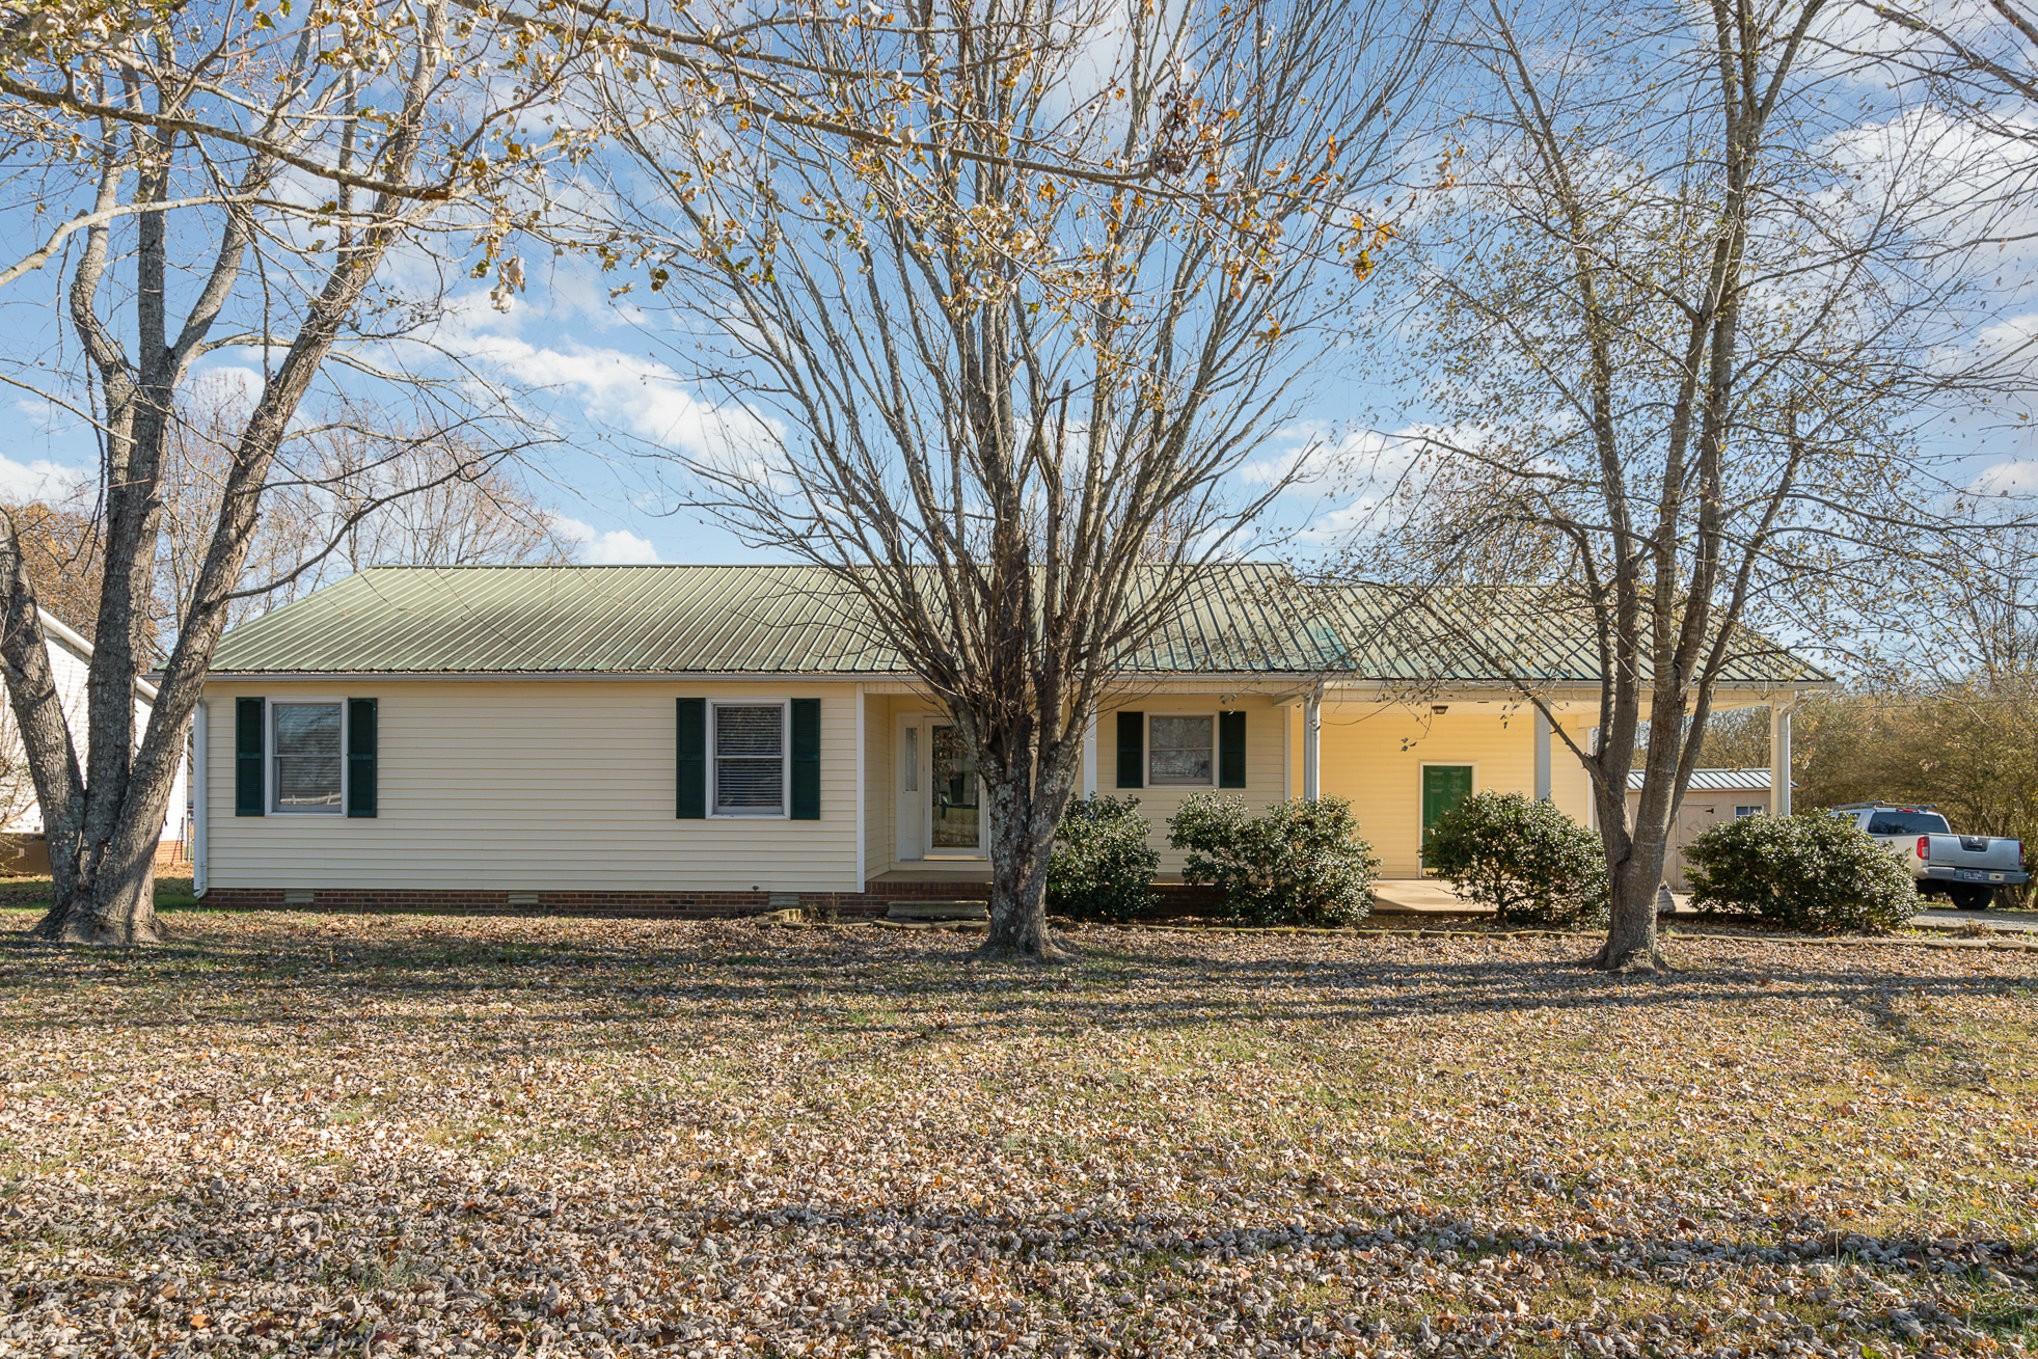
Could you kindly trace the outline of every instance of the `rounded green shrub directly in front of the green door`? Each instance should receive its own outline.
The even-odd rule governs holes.
[[[1473,793],[1437,821],[1423,860],[1506,925],[1606,923],[1606,848],[1551,803]]]

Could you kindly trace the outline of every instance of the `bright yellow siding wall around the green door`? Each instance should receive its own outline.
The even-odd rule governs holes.
[[[1535,715],[1498,703],[1451,703],[1441,717],[1427,705],[1323,705],[1321,780],[1325,797],[1351,799],[1359,833],[1382,858],[1382,876],[1412,878],[1423,850],[1423,766],[1469,764],[1476,793],[1535,793]],[[1565,729],[1584,744],[1592,725],[1567,717]],[[1296,795],[1302,793],[1302,721],[1296,715],[1292,752]],[[1551,801],[1586,823],[1590,782],[1577,756],[1551,736]]]

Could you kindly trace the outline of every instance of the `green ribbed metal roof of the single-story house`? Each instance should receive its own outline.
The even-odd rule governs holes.
[[[858,595],[813,566],[377,566],[228,632],[218,674],[903,674]],[[1818,683],[1759,638],[1730,683]],[[1590,617],[1553,591],[1414,595],[1200,570],[1123,666],[1365,681],[1598,678]]]

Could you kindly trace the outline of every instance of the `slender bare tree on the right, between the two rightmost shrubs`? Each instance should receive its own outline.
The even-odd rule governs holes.
[[[1967,141],[1832,63],[1834,12],[1490,0],[1461,179],[1418,228],[1435,428],[1400,538],[1592,619],[1598,744],[1559,736],[1612,870],[1606,968],[1663,964],[1671,817],[1751,623],[1965,532],[1965,450],[1926,426],[1987,381],[1969,265],[2005,204]],[[1547,705],[1533,648],[1486,660]]]

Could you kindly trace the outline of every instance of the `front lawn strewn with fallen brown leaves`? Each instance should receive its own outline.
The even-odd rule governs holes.
[[[0,1353],[2038,1347],[2038,952],[0,915]]]

